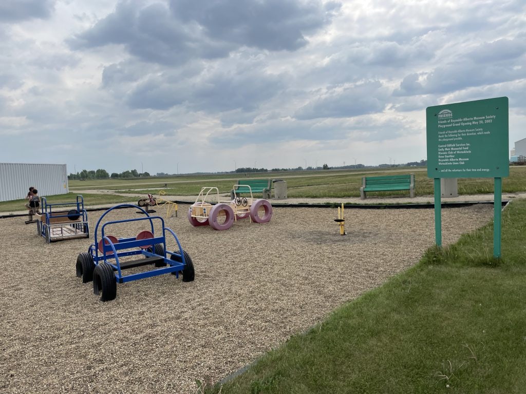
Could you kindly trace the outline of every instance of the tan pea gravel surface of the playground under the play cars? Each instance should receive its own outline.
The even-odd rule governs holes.
[[[346,236],[336,209],[275,208],[269,223],[242,220],[228,231],[190,226],[187,209],[179,205],[166,226],[193,258],[195,281],[161,275],[119,284],[107,303],[75,276],[93,234],[48,245],[25,218],[0,220],[0,392],[195,393],[196,379],[228,376],[434,243],[432,209],[348,209]],[[102,213],[88,213],[92,233]],[[492,213],[483,204],[442,210],[443,244]],[[141,224],[107,233],[134,236]]]

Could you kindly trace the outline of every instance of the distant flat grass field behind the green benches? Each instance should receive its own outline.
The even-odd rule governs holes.
[[[415,195],[433,195],[433,180],[427,178],[427,171],[421,168],[397,168],[402,173],[414,173]],[[296,172],[269,172],[247,174],[246,178],[282,179],[287,182],[288,198],[356,198],[360,196],[360,186],[363,175],[392,175],[393,170],[367,170],[367,171],[296,171]],[[164,190],[168,196],[182,195],[195,196],[204,186],[213,186],[221,194],[228,194],[232,185],[238,179],[245,178],[245,174],[212,174],[212,175],[178,175],[167,178],[137,178],[137,179],[106,179],[69,181],[69,195],[46,196],[53,201],[75,201],[76,191],[82,190],[86,205],[113,204],[119,202],[137,201],[137,197],[123,197],[107,194],[84,193],[85,190],[104,189],[118,191],[121,194],[156,195],[159,190]],[[167,184],[165,188],[164,185]],[[526,166],[511,167],[510,177],[502,182],[504,193],[526,192]],[[459,194],[493,193],[493,179],[468,178],[458,180]],[[368,196],[409,196],[408,191],[368,193]],[[0,202],[0,212],[24,210],[25,200]]]

